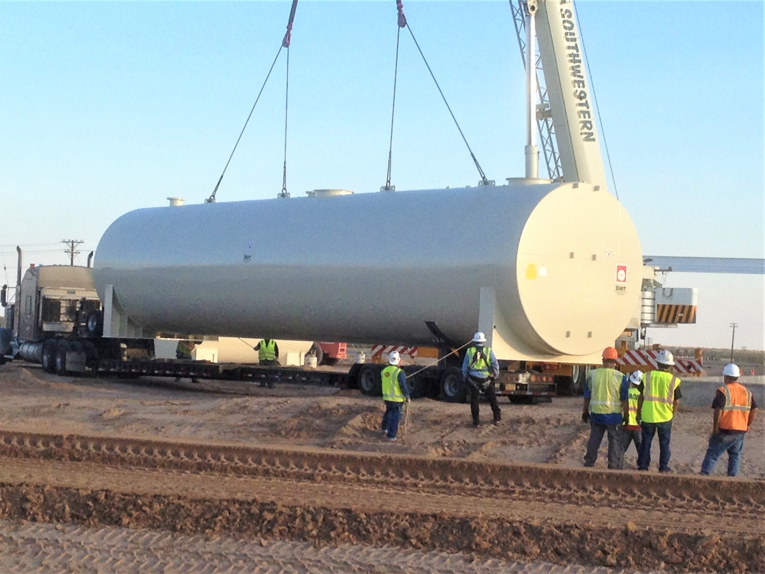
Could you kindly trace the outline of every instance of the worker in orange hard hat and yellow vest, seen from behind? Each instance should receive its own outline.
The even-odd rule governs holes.
[[[603,351],[603,367],[588,373],[584,388],[582,422],[590,423],[590,439],[584,454],[584,466],[594,466],[603,435],[608,433],[608,468],[620,470],[624,464],[622,445],[622,401],[627,389],[622,388],[623,376],[617,370],[619,354],[614,347]]]

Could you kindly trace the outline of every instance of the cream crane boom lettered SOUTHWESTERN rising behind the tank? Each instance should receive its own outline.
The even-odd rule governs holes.
[[[596,111],[587,77],[572,0],[529,0],[536,4],[536,38],[545,75],[563,181],[586,181],[608,189]]]

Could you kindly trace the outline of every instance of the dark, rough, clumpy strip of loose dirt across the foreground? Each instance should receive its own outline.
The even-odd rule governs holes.
[[[630,522],[624,527],[598,527],[591,523],[453,517],[407,511],[363,513],[349,508],[284,505],[257,498],[200,500],[26,484],[0,484],[0,517],[16,522],[225,536],[260,540],[262,544],[269,540],[293,540],[330,547],[392,546],[424,552],[469,553],[483,559],[539,559],[622,569],[765,572],[765,536],[639,529]],[[146,536],[168,540],[169,534]],[[77,556],[90,559],[86,554]],[[158,562],[157,556],[148,556],[131,564],[148,571]]]

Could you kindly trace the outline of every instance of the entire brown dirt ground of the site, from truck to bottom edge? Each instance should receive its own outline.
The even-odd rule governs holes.
[[[356,390],[6,364],[0,571],[765,572],[765,416],[739,478],[698,477],[716,381],[682,384],[659,475],[633,447],[607,471],[605,440],[581,468],[581,398],[479,429],[417,400],[389,443]]]

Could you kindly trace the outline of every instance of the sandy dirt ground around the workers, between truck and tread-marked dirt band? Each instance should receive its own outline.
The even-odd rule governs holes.
[[[765,407],[765,384],[760,382],[765,377],[751,378],[750,388]],[[672,424],[671,466],[676,473],[696,474],[701,468],[717,386],[715,377],[682,383],[683,406]],[[572,397],[541,405],[500,403],[502,425],[479,429],[470,426],[467,405],[417,400],[410,406],[406,429],[402,425],[401,439],[390,444],[378,430],[382,400],[356,390],[56,377],[18,363],[0,367],[0,390],[0,428],[31,432],[306,445],[566,466],[582,465],[589,435],[589,426],[580,419],[581,399]],[[486,403],[481,413],[483,421],[490,421]],[[744,444],[741,477],[765,478],[765,408],[760,413]],[[606,443],[604,439],[596,468],[606,466]],[[654,465],[658,455],[655,439]],[[625,468],[636,468],[634,446],[627,451]],[[725,469],[723,459],[715,474],[724,475]]]

